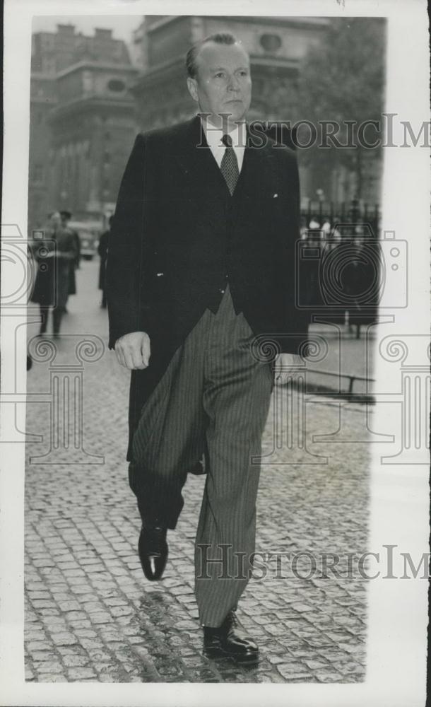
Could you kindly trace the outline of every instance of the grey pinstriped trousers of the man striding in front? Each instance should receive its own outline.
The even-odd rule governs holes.
[[[129,467],[143,520],[175,528],[187,470],[206,455],[195,544],[201,624],[219,626],[235,609],[252,570],[261,436],[273,386],[256,361],[244,315],[227,288],[177,349],[143,406]]]

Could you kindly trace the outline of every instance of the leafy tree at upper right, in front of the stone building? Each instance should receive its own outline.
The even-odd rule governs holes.
[[[363,145],[363,140],[361,144],[360,125],[378,121],[380,129],[368,127],[365,139],[372,143],[382,138],[384,54],[384,19],[336,18],[326,30],[326,37],[308,52],[300,67],[295,118],[308,120],[318,128],[317,145],[303,151],[305,161],[326,160],[332,168],[346,165],[355,172],[357,197],[362,191],[365,153],[370,158],[370,148]],[[339,126],[338,141],[348,142],[350,148],[319,147],[319,124],[329,120]],[[348,121],[354,122],[350,133]],[[379,150],[372,148],[373,158],[379,158]]]

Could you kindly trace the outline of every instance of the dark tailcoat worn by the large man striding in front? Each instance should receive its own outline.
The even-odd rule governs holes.
[[[275,145],[247,128],[231,197],[199,117],[136,137],[107,259],[110,348],[129,332],[150,336],[150,365],[131,374],[130,440],[143,403],[206,308],[216,310],[227,278],[254,334],[275,351],[305,351],[308,315],[295,303],[297,161]]]

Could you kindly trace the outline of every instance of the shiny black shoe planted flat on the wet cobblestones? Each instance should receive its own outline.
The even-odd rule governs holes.
[[[234,611],[229,612],[217,628],[203,626],[203,650],[209,658],[229,656],[235,662],[247,665],[259,660],[259,648],[240,629]]]

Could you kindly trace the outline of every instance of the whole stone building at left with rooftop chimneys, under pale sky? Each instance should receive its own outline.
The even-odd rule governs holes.
[[[114,208],[136,133],[136,76],[125,42],[57,25],[33,35],[30,81],[29,230],[69,209],[97,218]]]

